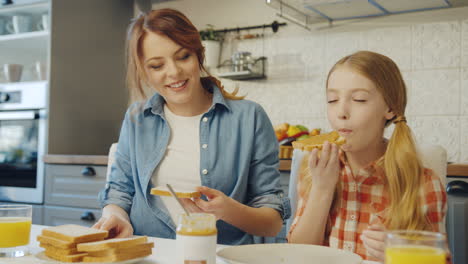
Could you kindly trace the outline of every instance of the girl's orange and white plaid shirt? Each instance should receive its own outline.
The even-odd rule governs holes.
[[[365,260],[376,260],[367,253],[359,237],[368,226],[383,224],[385,220],[386,208],[390,203],[385,172],[375,161],[353,176],[343,153],[340,153],[340,161],[341,206],[332,209],[329,214],[324,245],[357,253]],[[420,196],[424,213],[432,224],[432,231],[445,232],[447,195],[439,177],[432,170],[424,169],[423,173],[424,185]],[[306,202],[307,197],[298,197],[296,216],[288,239],[304,213]]]

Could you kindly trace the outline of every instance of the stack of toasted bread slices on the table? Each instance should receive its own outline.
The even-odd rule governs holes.
[[[104,240],[107,231],[79,225],[61,225],[37,236],[44,254],[62,262],[115,262],[151,255],[154,244],[146,237]]]

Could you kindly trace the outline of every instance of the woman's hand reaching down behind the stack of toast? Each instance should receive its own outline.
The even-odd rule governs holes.
[[[127,213],[120,207],[110,204],[104,207],[102,217],[92,227],[109,231],[108,238],[124,238],[133,235]]]

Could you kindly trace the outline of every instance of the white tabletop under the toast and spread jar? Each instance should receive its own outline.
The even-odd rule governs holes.
[[[31,254],[25,257],[20,258],[4,258],[0,259],[2,264],[46,264],[51,263],[48,261],[43,261],[36,258],[34,255],[41,252],[43,249],[39,247],[39,242],[37,242],[36,237],[42,231],[42,229],[47,226],[32,225],[31,228],[31,238],[30,238],[30,251]],[[176,254],[175,252],[175,240],[173,239],[164,239],[156,237],[148,237],[149,241],[154,242],[153,254],[148,256],[139,264],[174,264],[172,257]],[[225,246],[219,245],[218,248]],[[218,264],[225,264],[224,261],[218,260]],[[378,262],[373,261],[364,261],[363,264],[378,264]]]

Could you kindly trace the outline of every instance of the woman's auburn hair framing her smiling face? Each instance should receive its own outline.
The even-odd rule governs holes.
[[[215,84],[227,99],[239,100],[243,96],[236,96],[237,89],[226,92],[224,86],[203,66],[205,59],[205,48],[200,39],[197,28],[181,12],[174,9],[152,10],[147,14],[140,14],[135,18],[128,28],[126,53],[127,53],[127,87],[130,92],[130,102],[147,99],[145,87],[146,75],[142,65],[142,42],[144,36],[149,33],[156,33],[170,38],[183,48],[194,52],[198,59],[198,65],[205,77],[200,78],[200,82],[205,89],[210,89]]]

